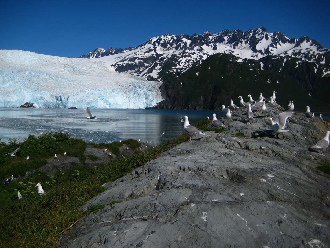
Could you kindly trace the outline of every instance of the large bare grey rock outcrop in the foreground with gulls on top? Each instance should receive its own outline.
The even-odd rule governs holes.
[[[106,183],[104,205],[62,247],[328,247],[330,161],[309,147],[330,124],[295,113],[277,138],[262,114],[233,113],[228,129],[193,137]],[[223,118],[223,117],[222,117]]]

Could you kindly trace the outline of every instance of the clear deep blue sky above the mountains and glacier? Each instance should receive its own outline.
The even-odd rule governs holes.
[[[165,33],[260,26],[330,49],[329,13],[327,1],[1,1],[0,49],[75,58]]]

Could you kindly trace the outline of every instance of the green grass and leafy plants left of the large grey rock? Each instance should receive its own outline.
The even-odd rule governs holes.
[[[52,138],[53,137],[53,138]],[[70,139],[56,138],[56,135],[48,135],[46,137],[52,143],[49,144],[49,153],[37,149],[40,154],[35,154],[35,161],[28,160],[25,162],[31,163],[25,166],[20,174],[26,169],[40,166],[47,156],[52,156],[55,151],[61,153],[66,151],[68,155],[75,154],[83,160],[83,150],[86,144],[82,141]],[[55,139],[54,139],[55,138]],[[178,145],[189,138],[188,135],[182,135],[173,141],[165,144],[152,147],[148,150],[135,151],[134,155],[127,156],[122,159],[110,161],[107,164],[99,165],[94,169],[88,169],[82,164],[70,167],[66,170],[60,170],[55,173],[54,177],[49,177],[45,173],[36,172],[31,177],[21,179],[15,178],[8,185],[0,185],[0,247],[54,247],[57,244],[60,233],[70,227],[77,220],[89,214],[91,211],[82,211],[80,207],[92,197],[95,197],[100,192],[106,190],[102,184],[116,180],[117,178],[126,175],[132,169],[142,166],[150,160],[157,158],[162,152]],[[40,141],[36,138],[30,138],[35,142],[35,147],[38,148]],[[16,141],[15,141],[16,142]],[[1,152],[12,151],[17,145],[23,147],[24,144],[1,144]],[[101,148],[119,147],[127,144],[130,147],[135,147],[137,142],[128,140],[118,144],[99,144]],[[95,145],[98,146],[98,145]],[[9,160],[4,156],[5,161],[10,161],[9,165],[5,165],[1,161],[1,168],[8,173],[15,173],[18,162],[22,161],[22,156],[25,156],[29,147],[17,152],[14,160]],[[23,150],[23,149],[22,149]],[[109,149],[111,150],[111,148]],[[114,152],[113,150],[111,150]],[[30,154],[30,153],[29,153]],[[32,153],[31,153],[32,154]],[[118,153],[119,154],[119,153]],[[40,158],[40,161],[37,158]],[[31,155],[30,155],[31,157]],[[11,158],[13,159],[13,158]],[[15,163],[13,163],[15,161]],[[38,162],[39,161],[39,162]],[[23,164],[20,164],[23,166]],[[13,168],[15,166],[15,168]],[[5,169],[4,169],[5,168]],[[10,174],[9,173],[9,174]],[[5,177],[1,174],[2,177]],[[47,195],[37,195],[35,185],[41,183]],[[22,194],[22,200],[18,201],[17,191]],[[115,204],[113,202],[111,204]],[[103,206],[93,206],[92,210],[97,211]]]

